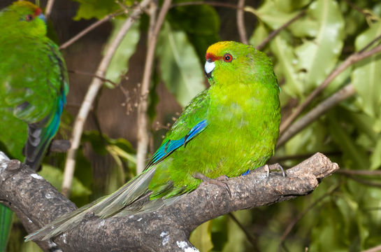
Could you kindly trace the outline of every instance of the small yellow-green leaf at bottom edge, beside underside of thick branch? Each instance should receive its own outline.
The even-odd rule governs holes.
[[[189,237],[189,241],[201,252],[208,252],[213,248],[211,229],[212,221],[207,221],[193,230]]]

